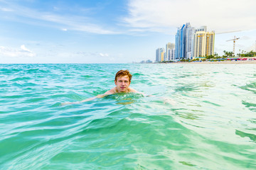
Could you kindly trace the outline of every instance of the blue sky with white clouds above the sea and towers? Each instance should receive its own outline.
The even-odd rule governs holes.
[[[0,0],[0,63],[155,60],[185,23],[215,31],[215,52],[256,50],[255,0]]]

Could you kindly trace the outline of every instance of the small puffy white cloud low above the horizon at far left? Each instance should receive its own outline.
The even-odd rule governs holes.
[[[28,50],[25,45],[20,49],[0,46],[0,57],[35,57],[36,53]]]

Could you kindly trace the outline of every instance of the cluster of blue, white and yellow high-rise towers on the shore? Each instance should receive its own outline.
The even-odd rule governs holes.
[[[167,42],[164,58],[161,58],[161,60],[159,60],[159,55],[161,54],[159,50],[164,51],[164,48],[156,49],[155,61],[176,62],[178,60],[193,60],[208,55],[215,55],[214,40],[215,31],[207,31],[207,26],[193,28],[191,23],[183,24],[177,30],[175,44]]]

